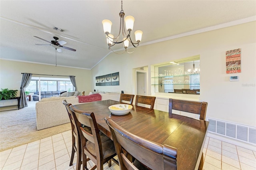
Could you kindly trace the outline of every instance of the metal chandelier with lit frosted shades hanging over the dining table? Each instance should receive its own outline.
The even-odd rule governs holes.
[[[119,28],[119,34],[116,38],[114,38],[114,36],[112,34],[110,34],[112,22],[110,20],[102,21],[103,30],[104,30],[104,33],[106,34],[106,38],[107,38],[108,49],[112,50],[111,47],[114,46],[115,44],[123,43],[125,51],[127,53],[132,53],[135,51],[136,48],[134,49],[134,51],[128,52],[127,48],[129,46],[129,42],[132,43],[132,45],[134,47],[138,47],[138,45],[141,41],[141,38],[142,38],[142,31],[138,30],[138,31],[134,32],[136,42],[132,42],[130,35],[131,35],[131,31],[133,29],[134,17],[126,16],[124,18],[123,1],[121,1],[121,11],[119,13],[119,16],[120,16],[120,28]],[[125,26],[126,26],[126,30],[127,30],[128,34],[126,34],[126,30],[124,29],[124,22],[125,22]],[[119,41],[119,38],[121,39],[120,41]],[[116,53],[115,51],[113,51],[113,52]],[[122,53],[124,53],[124,52],[122,52]],[[122,53],[118,53],[118,54],[122,54]]]

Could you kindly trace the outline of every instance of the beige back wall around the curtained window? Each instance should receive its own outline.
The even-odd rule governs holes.
[[[78,91],[85,91],[85,94],[88,95],[92,89],[92,76],[90,70],[60,66],[55,67],[54,65],[43,65],[8,60],[0,60],[0,88],[20,90],[22,80],[21,73],[74,75],[76,76],[76,87]]]

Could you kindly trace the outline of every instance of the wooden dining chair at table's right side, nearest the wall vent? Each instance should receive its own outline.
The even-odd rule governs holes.
[[[169,99],[169,114],[172,114],[172,110],[184,111],[200,115],[199,119],[205,121],[207,105],[207,102]],[[202,154],[198,170],[202,170],[203,165],[204,154]]]

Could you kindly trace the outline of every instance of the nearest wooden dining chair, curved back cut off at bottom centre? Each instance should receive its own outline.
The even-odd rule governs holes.
[[[110,128],[121,170],[176,170],[177,149],[157,144],[136,136],[117,125],[110,117],[105,118]],[[129,154],[127,154],[129,153]],[[132,162],[128,157],[135,158]]]

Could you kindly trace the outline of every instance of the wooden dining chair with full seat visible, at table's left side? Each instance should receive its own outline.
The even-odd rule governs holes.
[[[108,138],[108,136],[100,132],[94,113],[78,110],[72,105],[70,106],[70,110],[72,111],[76,128],[80,134],[83,167],[88,170],[87,157],[95,164],[91,170],[95,168],[97,168],[97,170],[103,170],[103,164],[106,162],[108,162],[108,166],[110,167],[111,160],[118,164],[118,161],[114,159],[114,156],[116,156],[114,142]],[[92,133],[84,130],[81,124],[90,127]]]

